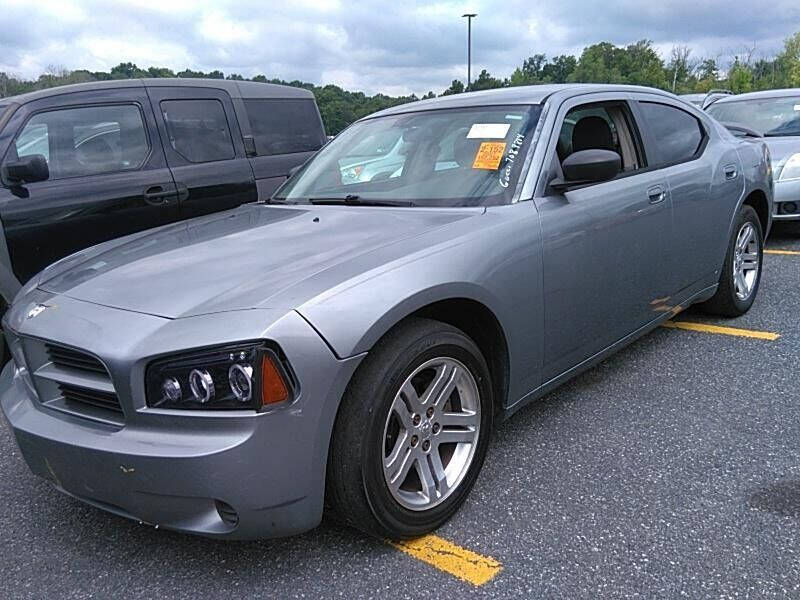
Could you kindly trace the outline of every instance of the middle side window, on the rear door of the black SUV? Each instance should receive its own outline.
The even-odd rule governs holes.
[[[161,112],[172,149],[189,162],[235,156],[225,109],[219,100],[164,100]]]

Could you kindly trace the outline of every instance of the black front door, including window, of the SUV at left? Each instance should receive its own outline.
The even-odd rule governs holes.
[[[3,163],[43,155],[49,179],[0,187],[12,268],[25,282],[72,252],[178,218],[144,88],[52,96],[18,109]]]

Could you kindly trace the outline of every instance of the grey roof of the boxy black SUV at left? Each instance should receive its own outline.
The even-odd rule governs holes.
[[[228,92],[231,98],[313,98],[314,96],[310,90],[288,85],[278,85],[275,83],[236,81],[231,79],[163,77],[153,79],[112,79],[110,81],[91,81],[88,83],[62,85],[20,94],[19,96],[2,98],[2,102],[25,104],[34,100],[63,94],[142,87],[214,88]]]

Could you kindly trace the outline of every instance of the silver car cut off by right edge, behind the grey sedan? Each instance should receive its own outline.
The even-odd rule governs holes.
[[[709,114],[742,134],[761,135],[772,157],[778,220],[800,220],[800,88],[730,96]]]

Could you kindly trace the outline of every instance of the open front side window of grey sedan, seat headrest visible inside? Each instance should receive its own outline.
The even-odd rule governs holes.
[[[620,155],[623,172],[642,168],[631,125],[633,119],[624,102],[605,102],[577,106],[570,110],[558,135],[556,152],[563,161],[580,150],[611,150]]]

